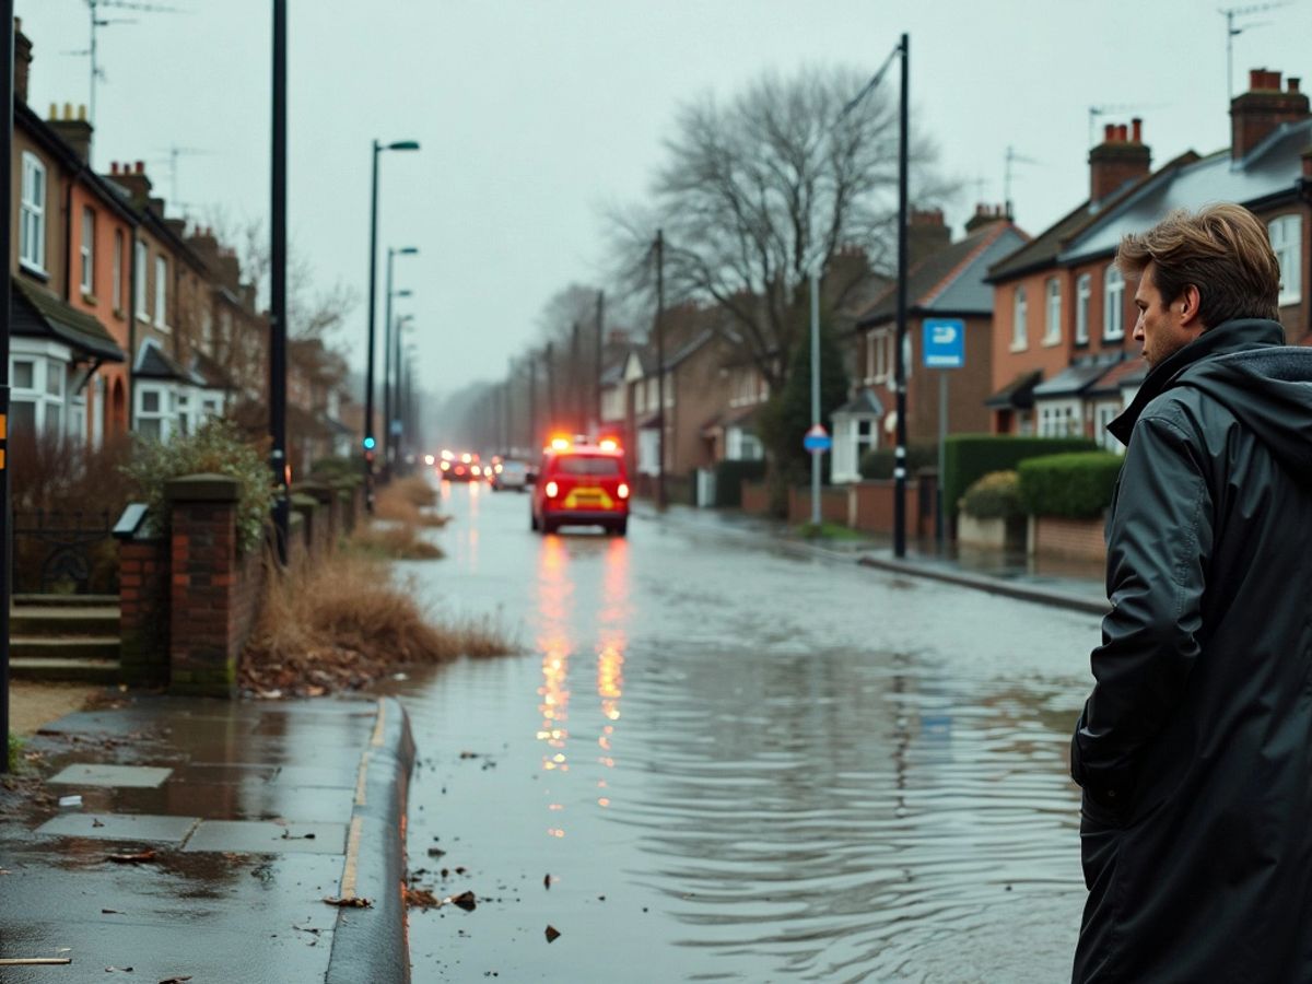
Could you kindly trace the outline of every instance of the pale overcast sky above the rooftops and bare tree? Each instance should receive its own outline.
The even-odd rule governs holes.
[[[108,1],[102,18],[135,22],[98,31],[97,167],[146,160],[169,214],[264,218],[270,0]],[[398,260],[396,286],[415,291],[398,303],[416,315],[422,371],[440,388],[501,378],[554,293],[601,281],[601,211],[644,199],[681,102],[768,70],[872,73],[905,30],[916,125],[962,181],[949,220],[959,234],[976,201],[1002,199],[1010,146],[1035,161],[1014,167],[1012,198],[1038,234],[1088,194],[1090,106],[1126,108],[1097,133],[1141,115],[1155,164],[1228,143],[1224,3],[290,0],[294,248],[319,285],[358,289],[342,341],[362,365],[370,143],[419,140],[380,161],[380,257],[421,251]],[[1253,67],[1309,68],[1312,0],[1271,7],[1236,18],[1236,91]],[[68,54],[88,47],[87,0],[16,13],[31,105],[87,102],[88,59]]]

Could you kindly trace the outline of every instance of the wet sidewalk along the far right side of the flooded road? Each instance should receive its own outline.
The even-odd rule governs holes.
[[[635,502],[635,512],[647,518],[657,517],[655,506],[649,502]],[[912,577],[930,577],[1072,611],[1096,615],[1107,611],[1101,563],[1039,560],[1026,558],[1023,554],[991,550],[958,551],[951,547],[939,552],[933,539],[908,542],[907,556],[897,559],[893,556],[891,537],[871,535],[850,541],[804,539],[781,520],[748,516],[736,509],[694,509],[672,505],[666,508],[664,521],[703,533],[720,531],[728,535],[769,538],[781,548],[792,552],[846,560]]]

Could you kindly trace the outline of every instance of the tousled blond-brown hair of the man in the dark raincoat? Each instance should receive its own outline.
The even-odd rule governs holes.
[[[1147,232],[1122,237],[1117,266],[1127,279],[1139,279],[1149,262],[1162,303],[1190,283],[1198,287],[1204,328],[1236,318],[1281,318],[1281,264],[1266,226],[1241,205],[1177,209]]]

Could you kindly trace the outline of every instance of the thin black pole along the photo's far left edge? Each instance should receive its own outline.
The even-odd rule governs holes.
[[[4,147],[0,148],[0,188],[7,189],[0,205],[0,256],[8,264],[13,249],[13,0],[0,0],[0,25],[5,31],[0,47],[0,113],[4,113]],[[9,268],[0,277],[0,735],[4,754],[0,773],[9,771],[9,600],[13,596],[9,501]]]

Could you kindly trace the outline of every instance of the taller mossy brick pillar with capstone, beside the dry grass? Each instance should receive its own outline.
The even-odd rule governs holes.
[[[167,483],[164,495],[172,513],[169,689],[231,698],[253,621],[249,564],[237,558],[237,483],[189,475]]]

